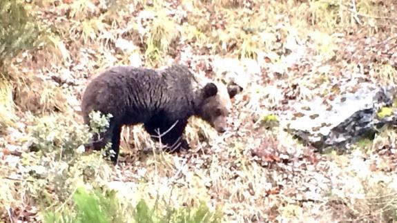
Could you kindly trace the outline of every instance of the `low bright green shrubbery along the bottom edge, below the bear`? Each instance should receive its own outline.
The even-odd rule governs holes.
[[[127,215],[120,211],[122,209],[119,208],[115,191],[88,192],[85,188],[77,188],[72,197],[74,209],[48,211],[44,214],[44,222],[131,222],[130,219],[125,219]],[[158,207],[151,209],[144,200],[141,200],[133,210],[133,220],[138,223],[215,223],[221,222],[222,218],[219,211],[212,213],[204,203],[196,209],[168,209],[164,215],[159,213],[162,213],[162,210]]]

